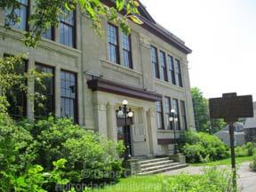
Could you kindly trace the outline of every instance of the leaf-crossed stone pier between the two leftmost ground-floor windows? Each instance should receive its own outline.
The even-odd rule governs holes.
[[[35,69],[35,58],[29,57],[28,58],[28,73],[31,70]],[[35,85],[34,79],[28,79],[28,92],[27,92],[27,117],[28,121],[34,120],[34,92],[35,92]]]

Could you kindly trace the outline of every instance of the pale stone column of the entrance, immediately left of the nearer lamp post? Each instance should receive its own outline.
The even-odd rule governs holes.
[[[107,127],[108,127],[108,139],[117,140],[116,131],[116,110],[113,104],[108,103],[107,105]]]

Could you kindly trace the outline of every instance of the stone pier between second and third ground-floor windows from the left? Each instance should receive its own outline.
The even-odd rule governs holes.
[[[55,76],[54,76],[54,88],[55,88],[55,115],[60,117],[60,106],[61,106],[61,99],[60,99],[60,66],[55,68]]]

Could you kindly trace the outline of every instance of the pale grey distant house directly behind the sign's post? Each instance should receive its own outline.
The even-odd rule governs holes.
[[[237,122],[234,124],[235,126],[235,146],[242,146],[245,143],[244,136],[244,123]],[[220,132],[216,132],[215,135],[220,138],[224,143],[230,146],[230,136],[229,136],[229,127],[228,125],[220,130]]]

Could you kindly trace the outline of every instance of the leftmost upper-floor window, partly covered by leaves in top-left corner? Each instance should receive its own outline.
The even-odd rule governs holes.
[[[11,20],[8,20],[8,18],[6,18],[5,22],[10,27],[28,30],[29,2],[28,0],[17,0],[17,2],[20,4],[20,9],[16,9],[14,12],[20,18],[20,22],[14,24]],[[10,12],[11,10],[6,10],[5,15],[9,14]]]

